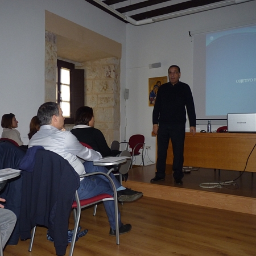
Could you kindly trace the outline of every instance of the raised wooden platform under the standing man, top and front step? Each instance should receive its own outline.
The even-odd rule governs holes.
[[[147,197],[256,215],[256,175],[250,172],[221,170],[219,175],[213,169],[200,168],[185,174],[182,186],[174,184],[171,166],[167,166],[164,181],[150,183],[154,176],[155,164],[133,168],[129,171],[129,179],[123,185],[142,191]],[[229,187],[199,187],[201,183],[235,179],[237,185]]]

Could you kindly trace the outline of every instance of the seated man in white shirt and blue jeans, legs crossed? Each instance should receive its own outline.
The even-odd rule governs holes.
[[[46,102],[41,105],[38,109],[40,130],[33,135],[28,147],[43,146],[46,150],[61,155],[68,160],[79,175],[97,171],[107,173],[108,170],[105,167],[93,166],[92,161],[102,158],[99,152],[82,146],[70,131],[61,131],[64,129],[65,119],[62,114],[62,110],[55,102]],[[81,163],[77,156],[84,159],[85,162]],[[142,192],[122,187],[113,174],[110,176],[117,188],[119,201],[134,201],[143,195]],[[87,199],[100,193],[113,195],[109,180],[103,176],[90,176],[81,179],[78,193],[80,199]],[[114,201],[105,201],[104,206],[110,222],[110,235],[115,236]],[[123,225],[121,223],[120,217],[119,225],[120,234],[127,233],[131,229],[130,224]]]

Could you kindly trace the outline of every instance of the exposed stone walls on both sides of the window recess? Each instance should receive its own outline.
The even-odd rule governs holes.
[[[46,31],[45,102],[56,101],[56,40],[55,34]],[[93,108],[95,127],[102,131],[110,146],[112,141],[119,141],[120,60],[108,57],[75,63],[75,68],[85,69],[85,106]],[[73,125],[65,127],[70,130]]]

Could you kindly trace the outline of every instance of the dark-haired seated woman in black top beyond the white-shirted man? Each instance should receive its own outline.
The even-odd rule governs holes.
[[[81,106],[76,110],[75,126],[71,133],[77,137],[80,142],[91,146],[95,151],[105,156],[117,156],[121,151],[110,150],[108,143],[102,132],[94,128],[93,109],[88,106]]]

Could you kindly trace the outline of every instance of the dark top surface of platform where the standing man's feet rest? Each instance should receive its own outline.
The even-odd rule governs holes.
[[[256,174],[253,175],[251,172],[227,170],[214,171],[214,169],[207,168],[193,168],[193,170],[194,169],[195,171],[191,171],[189,174],[184,174],[182,188],[256,198]],[[189,168],[187,170],[189,170]],[[241,177],[237,179],[237,177],[240,175]],[[129,171],[129,181],[139,181],[142,183],[152,184],[150,183],[150,180],[154,176],[155,164],[151,164],[149,166],[137,166]],[[208,183],[211,181],[226,181],[235,179],[237,179],[236,186],[213,189],[205,189],[199,186],[201,183]],[[177,185],[174,184],[174,178],[172,176],[172,166],[167,165],[165,180],[154,184],[164,185],[167,187],[177,187]]]

